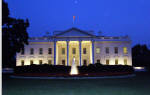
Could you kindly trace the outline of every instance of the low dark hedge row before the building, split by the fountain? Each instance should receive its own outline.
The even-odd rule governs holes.
[[[15,73],[70,73],[71,66],[64,65],[28,65],[17,66]],[[79,73],[101,73],[101,72],[133,72],[132,66],[127,65],[102,65],[100,63],[90,64],[88,66],[78,66]]]

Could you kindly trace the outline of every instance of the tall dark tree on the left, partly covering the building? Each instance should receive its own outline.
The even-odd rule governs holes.
[[[28,19],[15,19],[9,17],[8,4],[2,1],[2,66],[15,65],[16,52],[20,52],[28,44]]]

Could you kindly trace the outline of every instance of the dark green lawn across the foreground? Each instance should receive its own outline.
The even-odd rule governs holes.
[[[3,95],[150,95],[150,74],[125,79],[12,79],[3,75]]]

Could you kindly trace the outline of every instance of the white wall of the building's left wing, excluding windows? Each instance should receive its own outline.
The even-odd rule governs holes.
[[[16,65],[21,65],[21,60],[24,60],[24,65],[30,65],[30,60],[33,60],[34,64],[39,64],[39,60],[42,60],[42,63],[48,63],[48,60],[52,60],[52,64],[54,63],[53,60],[53,42],[29,42],[29,45],[25,46],[24,55],[21,53],[17,53],[17,60]],[[30,55],[30,48],[34,49],[34,54]],[[43,48],[43,54],[39,54],[39,48]],[[52,48],[52,54],[48,54],[48,48]]]

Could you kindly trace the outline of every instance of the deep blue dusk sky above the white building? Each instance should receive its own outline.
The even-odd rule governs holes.
[[[150,0],[5,0],[10,16],[28,18],[29,36],[46,31],[102,31],[105,36],[129,35],[133,45],[150,45]],[[73,16],[75,24],[72,24]]]

